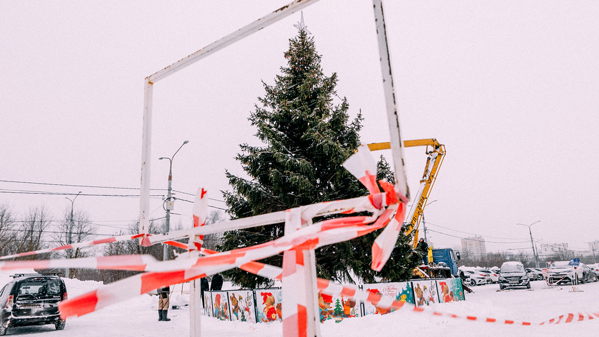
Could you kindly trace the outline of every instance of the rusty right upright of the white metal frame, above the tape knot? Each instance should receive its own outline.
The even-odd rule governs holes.
[[[395,169],[395,186],[410,199],[410,190],[407,185],[406,170],[404,167],[403,146],[400,136],[400,117],[397,114],[397,102],[395,101],[395,89],[393,75],[391,73],[391,58],[387,45],[387,33],[385,31],[385,17],[383,16],[383,4],[381,0],[373,0],[374,22],[376,23],[377,40],[379,41],[380,67],[383,73],[383,93],[387,108],[387,120],[389,122],[389,134],[391,136],[391,154]]]

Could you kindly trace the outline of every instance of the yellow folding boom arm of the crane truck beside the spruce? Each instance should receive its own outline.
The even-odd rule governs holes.
[[[416,230],[416,234],[414,236],[414,247],[416,247],[416,244],[418,243],[418,226],[420,224],[420,219],[422,218],[422,212],[424,211],[426,200],[428,200],[428,195],[431,192],[432,185],[435,184],[435,180],[437,179],[437,172],[441,166],[441,163],[443,163],[443,158],[445,157],[445,146],[437,142],[437,140],[434,138],[404,141],[404,148],[413,148],[415,146],[426,146],[425,153],[428,155],[428,157],[426,158],[426,166],[424,167],[422,179],[420,179],[420,187],[415,195],[412,208],[410,208],[410,212],[406,216],[407,222],[404,222],[404,225],[407,225],[408,227],[406,235],[409,235]],[[372,143],[368,144],[368,148],[370,151],[391,149],[391,144],[388,142]]]

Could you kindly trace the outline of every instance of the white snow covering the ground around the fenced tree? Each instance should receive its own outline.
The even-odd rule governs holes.
[[[0,275],[0,281],[5,281]],[[77,296],[103,285],[93,281],[66,280],[69,297]],[[599,312],[599,282],[579,285],[581,293],[570,292],[570,286],[544,288],[543,281],[532,282],[531,290],[498,291],[496,284],[473,287],[464,302],[437,304],[433,308],[456,315],[492,317],[498,321],[521,320],[540,323],[569,312]],[[175,285],[171,304],[187,303],[186,291]],[[54,326],[10,329],[7,335],[28,336],[187,336],[189,307],[169,310],[170,322],[158,321],[158,299],[143,295],[120,305],[110,306],[78,318],[69,318],[65,330]],[[431,311],[428,311],[431,312]],[[581,336],[599,329],[599,318],[579,323],[553,326],[510,326],[503,323],[484,323],[437,317],[426,312],[403,308],[388,315],[352,318],[341,323],[321,324],[322,336]],[[202,317],[202,335],[210,337],[267,337],[282,336],[282,324],[252,324],[219,321]]]

